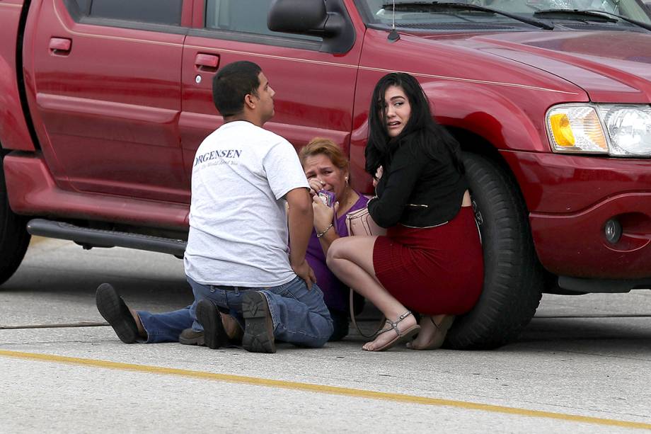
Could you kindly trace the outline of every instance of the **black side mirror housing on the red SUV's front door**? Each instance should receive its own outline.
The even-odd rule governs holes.
[[[323,34],[328,21],[323,0],[274,0],[267,27],[275,32]]]

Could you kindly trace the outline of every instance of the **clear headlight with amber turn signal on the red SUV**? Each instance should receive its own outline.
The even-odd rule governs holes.
[[[554,152],[651,156],[649,105],[557,105],[546,125]]]

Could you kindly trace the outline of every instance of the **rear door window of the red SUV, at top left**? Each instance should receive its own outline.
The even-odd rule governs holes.
[[[183,0],[76,0],[83,16],[180,25]]]

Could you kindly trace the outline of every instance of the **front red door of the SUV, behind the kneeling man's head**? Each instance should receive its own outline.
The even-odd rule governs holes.
[[[276,91],[275,116],[265,128],[297,149],[321,136],[347,152],[363,28],[351,35],[345,52],[328,52],[321,38],[271,32],[270,4],[271,0],[195,1],[193,29],[183,50],[179,121],[188,173],[202,139],[221,125],[212,101],[212,78],[219,67],[238,60],[259,64]]]

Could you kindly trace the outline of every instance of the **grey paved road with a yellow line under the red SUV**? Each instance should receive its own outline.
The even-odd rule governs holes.
[[[275,355],[125,345],[95,289],[192,299],[171,256],[35,239],[0,286],[0,431],[624,433],[651,430],[651,291],[545,295],[492,351],[362,352],[352,335]]]

